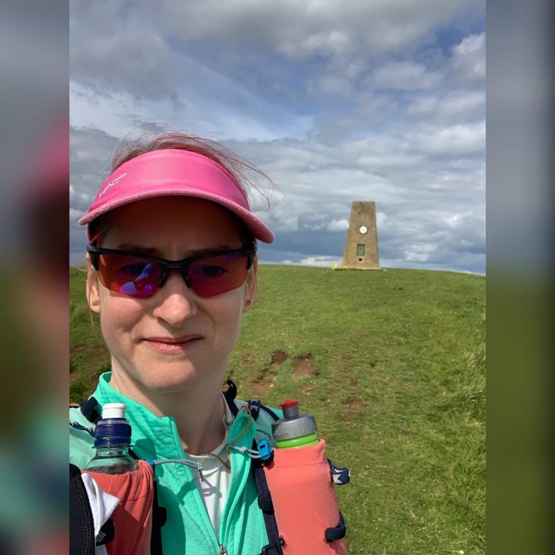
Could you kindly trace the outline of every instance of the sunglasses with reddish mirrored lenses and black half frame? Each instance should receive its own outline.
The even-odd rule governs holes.
[[[170,270],[200,297],[215,297],[244,284],[256,248],[214,250],[182,260],[167,260],[130,250],[87,245],[90,261],[104,287],[130,297],[148,299],[164,285]]]

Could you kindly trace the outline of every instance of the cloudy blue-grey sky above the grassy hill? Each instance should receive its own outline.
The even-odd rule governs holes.
[[[380,265],[484,273],[484,0],[72,0],[71,260],[120,140],[168,126],[277,186],[262,262],[341,264],[374,200]]]

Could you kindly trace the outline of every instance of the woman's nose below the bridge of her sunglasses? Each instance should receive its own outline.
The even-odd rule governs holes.
[[[187,287],[180,271],[170,271],[163,287],[153,297],[157,302],[153,316],[173,327],[181,327],[197,312],[195,293]]]

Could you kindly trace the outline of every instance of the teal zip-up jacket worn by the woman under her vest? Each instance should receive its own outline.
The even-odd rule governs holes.
[[[185,459],[176,422],[171,416],[158,418],[140,404],[121,395],[110,386],[111,373],[99,378],[93,396],[99,402],[97,408],[107,402],[123,402],[127,406],[126,417],[132,429],[133,452],[139,459]],[[273,418],[260,411],[256,422],[248,426],[249,415],[241,409],[246,403],[235,400],[239,408],[228,432],[228,438],[244,435],[235,443],[237,447],[253,447],[253,439],[271,438]],[[280,411],[275,411],[282,416]],[[69,419],[83,426],[90,422],[78,408],[71,408]],[[245,432],[246,430],[246,432]],[[69,459],[79,468],[85,468],[94,456],[93,438],[83,429],[70,427]],[[194,482],[193,470],[180,463],[155,466],[158,504],[167,511],[167,522],[162,527],[162,550],[164,555],[259,555],[268,544],[262,511],[257,504],[257,488],[252,459],[237,450],[231,450],[230,490],[216,536]]]

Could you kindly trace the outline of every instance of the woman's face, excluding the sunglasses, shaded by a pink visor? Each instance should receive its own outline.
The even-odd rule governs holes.
[[[114,210],[101,246],[178,260],[243,245],[239,225],[220,205],[158,197]],[[255,300],[256,263],[244,285],[211,298],[196,295],[179,271],[148,299],[110,291],[94,277],[89,305],[100,313],[112,382],[121,393],[140,402],[154,393],[221,386],[241,315]]]

